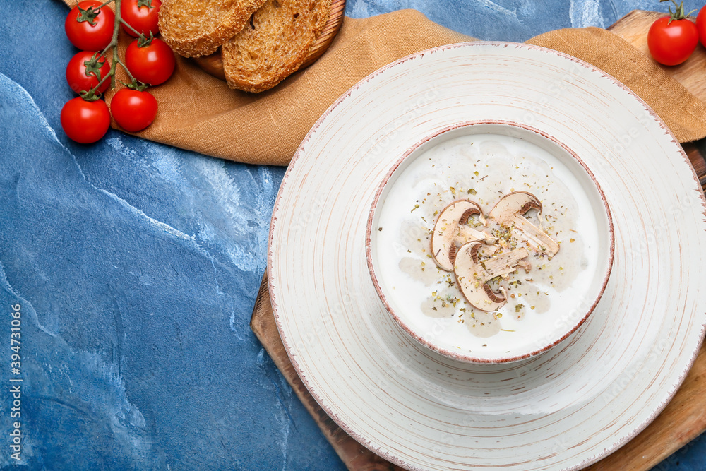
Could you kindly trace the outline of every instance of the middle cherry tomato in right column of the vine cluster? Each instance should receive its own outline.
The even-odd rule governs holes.
[[[174,65],[172,48],[162,40],[152,40],[149,46],[138,47],[133,41],[125,51],[125,65],[129,71],[144,83],[159,85],[172,76]]]

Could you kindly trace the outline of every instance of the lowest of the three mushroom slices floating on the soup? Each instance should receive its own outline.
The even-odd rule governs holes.
[[[518,266],[529,272],[532,266],[524,258],[530,255],[530,251],[520,247],[481,262],[479,251],[484,250],[481,242],[469,242],[462,246],[456,254],[453,271],[461,292],[472,306],[481,311],[495,311],[503,307],[507,300],[505,293],[494,292],[488,281],[496,276],[508,275]]]

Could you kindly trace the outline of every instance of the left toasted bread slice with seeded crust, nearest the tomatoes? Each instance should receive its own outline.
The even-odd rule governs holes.
[[[162,39],[184,57],[211,54],[236,35],[265,0],[167,0],[160,7]]]

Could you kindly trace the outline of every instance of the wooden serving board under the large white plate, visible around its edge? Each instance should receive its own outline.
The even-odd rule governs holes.
[[[608,29],[647,53],[647,30],[652,22],[660,16],[664,16],[664,13],[632,11]],[[665,70],[682,85],[685,85],[691,93],[706,101],[706,81],[702,78],[705,66],[706,49],[699,46],[687,64],[665,67]],[[702,189],[706,189],[706,159],[700,151],[700,149],[706,148],[706,140],[685,144],[683,148],[698,175]],[[326,415],[306,390],[301,378],[294,371],[294,366],[289,362],[289,357],[287,357],[287,352],[277,331],[270,304],[267,273],[265,273],[260,285],[250,326],[349,470],[390,471],[402,469],[380,458],[352,439]],[[625,446],[588,467],[587,470],[650,470],[705,430],[706,347],[703,347],[686,380],[662,414]]]

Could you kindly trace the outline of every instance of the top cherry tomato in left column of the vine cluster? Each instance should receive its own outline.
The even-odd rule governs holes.
[[[78,49],[102,51],[113,39],[115,13],[104,6],[96,15],[95,11],[99,6],[101,6],[100,1],[84,0],[68,12],[64,29],[66,29],[68,40]],[[88,12],[90,7],[92,7],[92,14]],[[83,13],[79,8],[83,10]],[[79,19],[83,19],[83,21],[79,21]]]

